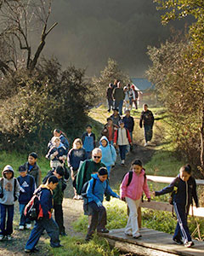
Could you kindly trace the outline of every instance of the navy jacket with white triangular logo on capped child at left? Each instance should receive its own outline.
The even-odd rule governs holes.
[[[18,182],[20,183],[20,196],[19,203],[27,204],[36,189],[36,183],[34,177],[27,174],[26,177],[17,177]]]

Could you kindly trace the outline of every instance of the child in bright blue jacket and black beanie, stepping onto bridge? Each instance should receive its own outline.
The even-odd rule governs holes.
[[[91,212],[90,225],[86,236],[86,241],[89,241],[95,229],[97,232],[108,233],[109,230],[105,229],[107,224],[106,210],[102,202],[104,201],[105,193],[112,195],[120,199],[119,195],[116,195],[109,186],[107,181],[108,171],[105,167],[101,167],[98,173],[92,175],[92,179],[88,183],[87,197],[88,197],[88,209]],[[94,181],[95,179],[95,181]]]

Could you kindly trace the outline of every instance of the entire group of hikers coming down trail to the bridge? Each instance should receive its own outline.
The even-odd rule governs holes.
[[[126,155],[133,151],[134,119],[130,110],[135,104],[138,108],[138,93],[133,85],[127,84],[122,88],[120,81],[109,84],[106,92],[109,109],[113,114],[107,119],[99,148],[96,147],[96,137],[92,125],[86,126],[82,138],[76,138],[70,148],[65,133],[59,129],[54,130],[54,137],[48,143],[46,157],[50,160],[51,170],[42,179],[42,173],[37,165],[37,154],[31,152],[27,162],[19,167],[19,177],[14,177],[12,166],[5,166],[0,180],[0,241],[12,240],[14,201],[19,201],[20,224],[19,230],[34,227],[26,242],[25,252],[38,251],[37,242],[46,230],[50,237],[51,247],[62,247],[59,236],[67,236],[63,217],[63,197],[66,182],[71,176],[74,190],[74,200],[83,200],[84,214],[88,215],[88,232],[85,238],[93,238],[95,230],[99,233],[108,233],[105,228],[107,223],[106,209],[103,206],[104,196],[107,201],[116,197],[127,202],[129,217],[125,228],[126,236],[134,239],[141,237],[139,233],[139,206],[143,192],[148,201],[150,195],[157,196],[172,193],[173,207],[178,218],[178,224],[173,236],[173,241],[191,247],[193,241],[187,224],[187,216],[192,199],[198,205],[196,184],[191,176],[190,166],[182,166],[178,177],[167,188],[150,193],[141,160],[133,160],[131,170],[125,174],[120,187],[120,195],[110,187],[111,170],[116,165],[116,155],[120,154],[121,165],[125,166]],[[125,116],[122,117],[122,106],[125,102]],[[139,126],[144,126],[144,146],[152,138],[154,115],[143,106]],[[128,170],[127,170],[128,171]],[[176,189],[175,189],[176,188]],[[54,218],[52,212],[54,210]]]

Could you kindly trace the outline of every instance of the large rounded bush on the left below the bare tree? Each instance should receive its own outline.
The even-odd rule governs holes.
[[[83,69],[42,60],[35,73],[16,73],[14,84],[16,94],[1,101],[1,148],[42,151],[55,127],[79,136],[93,96]]]

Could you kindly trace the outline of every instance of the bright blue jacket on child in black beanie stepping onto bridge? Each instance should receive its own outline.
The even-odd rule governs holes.
[[[102,183],[99,180],[98,173],[92,174],[92,177],[93,178],[88,183],[88,189],[87,189],[88,202],[91,202],[91,201],[95,201],[96,203],[99,201],[102,202],[104,201],[105,194],[112,195],[113,197],[116,197],[116,198],[120,198],[119,195],[116,195],[116,193],[112,191],[107,180],[104,183]],[[96,183],[93,191],[94,179],[96,179]]]

